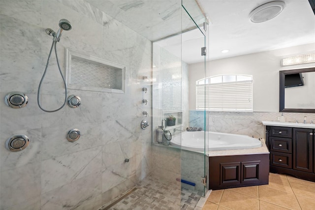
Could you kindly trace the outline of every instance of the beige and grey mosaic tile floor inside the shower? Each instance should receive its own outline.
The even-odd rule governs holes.
[[[109,210],[193,210],[201,195],[200,191],[180,190],[174,183],[148,176]]]

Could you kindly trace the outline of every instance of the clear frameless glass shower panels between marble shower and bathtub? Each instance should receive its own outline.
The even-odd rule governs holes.
[[[191,116],[189,110],[189,64],[196,63],[191,55],[198,55],[197,62],[203,63],[204,78],[207,77],[206,49],[208,43],[207,19],[198,4],[192,0],[182,1],[181,29],[177,34],[168,35],[153,42],[153,87],[152,87],[152,142],[153,159],[157,170],[153,173],[166,180],[182,180],[182,188],[197,190],[205,195],[208,175],[208,139],[204,135],[203,152],[192,152],[176,148],[172,140],[161,135],[161,128],[171,137],[181,136],[188,127],[197,125],[208,131],[206,112]],[[206,98],[199,99],[204,103]],[[199,112],[200,113],[200,112]],[[175,118],[175,123],[168,124]],[[166,126],[166,127],[165,127]],[[208,137],[207,137],[208,138]],[[176,164],[174,164],[174,162]],[[163,171],[163,173],[155,173]],[[181,181],[179,180],[179,181]]]

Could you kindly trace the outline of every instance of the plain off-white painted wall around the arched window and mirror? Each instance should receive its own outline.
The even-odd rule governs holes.
[[[315,43],[214,60],[209,62],[210,76],[232,73],[253,75],[253,111],[277,112],[279,71],[315,67],[315,63],[281,67],[281,59],[307,53],[315,53]],[[195,84],[203,76],[204,64],[189,65],[189,110],[195,109]]]

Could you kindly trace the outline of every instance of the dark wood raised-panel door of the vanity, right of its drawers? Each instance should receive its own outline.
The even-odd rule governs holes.
[[[293,128],[293,169],[313,173],[313,129]]]

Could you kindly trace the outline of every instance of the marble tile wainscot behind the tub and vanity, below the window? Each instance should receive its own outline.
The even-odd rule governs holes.
[[[277,121],[281,116],[279,112],[224,112],[210,111],[209,128],[210,131],[242,134],[264,138],[264,127],[261,121]],[[203,127],[204,111],[189,111],[189,126]],[[303,122],[307,116],[308,122],[315,121],[314,113],[284,113],[286,122]]]

